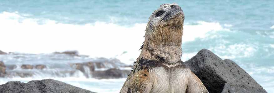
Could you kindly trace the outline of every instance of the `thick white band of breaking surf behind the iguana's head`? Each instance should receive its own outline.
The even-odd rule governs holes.
[[[116,57],[121,62],[131,64],[140,54],[138,49],[144,41],[146,23],[131,27],[105,22],[77,25],[25,18],[23,15],[26,14],[0,13],[0,25],[3,25],[0,28],[0,42],[5,45],[0,46],[1,50],[34,54],[78,50],[83,55]],[[206,38],[210,36],[208,32],[228,30],[219,23],[197,23],[184,26],[183,42]]]

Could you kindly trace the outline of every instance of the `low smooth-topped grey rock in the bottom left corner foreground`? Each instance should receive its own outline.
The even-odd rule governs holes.
[[[95,93],[53,79],[33,80],[28,83],[10,81],[0,85],[0,93]]]

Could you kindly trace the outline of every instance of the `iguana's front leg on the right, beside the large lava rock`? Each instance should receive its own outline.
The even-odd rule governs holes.
[[[200,79],[191,71],[189,72],[186,93],[209,93]]]

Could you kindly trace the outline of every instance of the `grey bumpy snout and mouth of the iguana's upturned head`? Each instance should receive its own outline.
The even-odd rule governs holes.
[[[167,11],[167,13],[164,15],[164,17],[162,19],[163,21],[171,20],[171,19],[177,17],[178,15],[184,15],[183,10],[181,9],[180,6],[171,5],[170,7],[171,7],[171,9],[169,11]]]

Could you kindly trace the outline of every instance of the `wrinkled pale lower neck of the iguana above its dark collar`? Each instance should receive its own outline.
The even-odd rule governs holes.
[[[162,60],[167,64],[176,64],[182,56],[181,43],[176,45],[178,46],[170,46],[165,42],[160,44],[145,42],[139,58]]]

